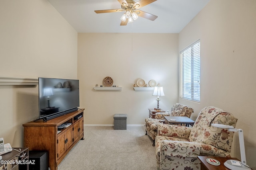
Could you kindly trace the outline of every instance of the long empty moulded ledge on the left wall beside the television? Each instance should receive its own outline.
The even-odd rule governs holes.
[[[0,85],[38,85],[38,79],[0,77]]]

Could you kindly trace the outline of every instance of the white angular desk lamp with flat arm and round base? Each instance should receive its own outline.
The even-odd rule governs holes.
[[[241,161],[230,159],[230,160],[227,160],[226,162],[224,162],[224,165],[231,170],[251,170],[251,168],[246,164],[243,130],[236,129],[230,125],[223,125],[223,124],[218,124],[218,123],[212,123],[212,126],[223,128],[223,129],[228,129],[228,131],[231,131],[231,132],[238,132]]]

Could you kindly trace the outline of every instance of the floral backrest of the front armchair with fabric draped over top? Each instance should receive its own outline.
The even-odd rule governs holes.
[[[237,119],[227,111],[208,106],[202,109],[196,118],[188,140],[209,144],[216,148],[231,151],[234,132],[227,129],[212,127],[212,123],[236,126]]]

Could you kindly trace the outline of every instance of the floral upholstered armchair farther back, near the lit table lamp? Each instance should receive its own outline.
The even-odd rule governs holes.
[[[182,104],[174,104],[172,106],[171,112],[156,112],[155,119],[152,118],[146,118],[146,135],[148,134],[152,140],[153,140],[153,145],[155,146],[155,138],[157,135],[157,127],[159,123],[164,122],[164,116],[186,116],[190,117],[193,112],[193,109],[182,105]]]

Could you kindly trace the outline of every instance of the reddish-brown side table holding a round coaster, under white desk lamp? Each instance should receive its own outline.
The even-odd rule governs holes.
[[[224,162],[226,162],[226,160],[229,160],[229,159],[239,160],[238,158],[226,158],[226,157],[217,157],[217,156],[197,156],[197,158],[201,162],[201,170],[230,170],[226,168],[226,166],[224,165]],[[206,161],[207,158],[214,158],[220,161],[220,165],[215,166],[215,165],[209,164]]]

